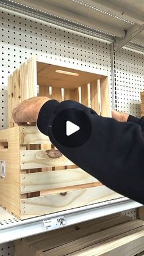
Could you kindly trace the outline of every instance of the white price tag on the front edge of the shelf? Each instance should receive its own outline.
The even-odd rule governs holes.
[[[45,226],[45,230],[53,230],[64,227],[66,225],[66,221],[64,216],[60,216],[52,219],[44,219],[43,224]]]

